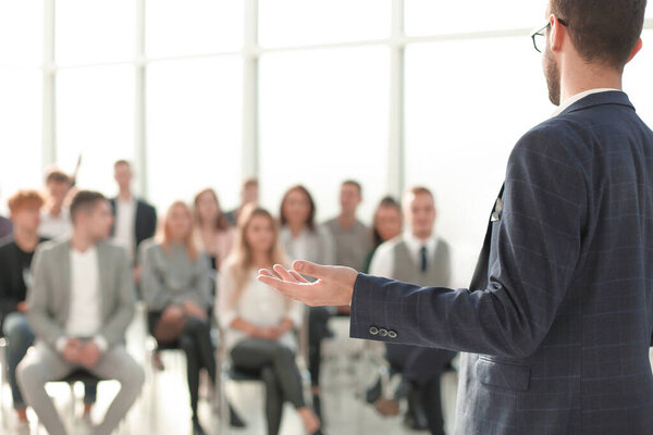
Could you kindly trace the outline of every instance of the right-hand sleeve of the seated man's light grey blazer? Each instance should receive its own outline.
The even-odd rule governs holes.
[[[116,274],[116,307],[113,313],[100,327],[98,334],[102,336],[109,347],[122,343],[125,339],[125,333],[130,323],[134,319],[136,295],[134,291],[134,281],[132,268],[126,253],[122,249],[113,251],[116,257],[114,260]]]

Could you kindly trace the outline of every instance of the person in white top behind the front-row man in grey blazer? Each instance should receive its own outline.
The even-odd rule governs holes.
[[[71,177],[63,171],[51,169],[46,175],[46,203],[41,212],[38,234],[46,238],[70,236],[71,214],[65,200],[73,186]]]

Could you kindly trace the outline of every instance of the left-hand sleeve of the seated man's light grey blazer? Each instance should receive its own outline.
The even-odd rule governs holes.
[[[52,252],[37,248],[32,261],[33,283],[27,291],[27,321],[34,335],[42,339],[50,347],[56,348],[57,340],[65,336],[63,325],[59,324],[50,314],[48,307],[53,302],[52,276],[50,258]]]

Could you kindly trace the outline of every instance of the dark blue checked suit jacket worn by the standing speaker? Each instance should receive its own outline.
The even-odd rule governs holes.
[[[360,274],[352,336],[467,352],[458,434],[653,434],[653,132],[625,94],[519,140],[484,251],[470,289]]]

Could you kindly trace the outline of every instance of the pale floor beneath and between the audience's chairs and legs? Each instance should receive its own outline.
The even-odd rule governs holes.
[[[176,351],[163,352],[165,364],[163,372],[156,372],[149,363],[144,316],[138,315],[130,327],[127,343],[131,353],[147,368],[147,382],[140,399],[128,414],[127,421],[121,427],[120,434],[124,435],[185,435],[190,434],[188,394],[185,381],[185,360]],[[323,412],[325,419],[325,433],[337,435],[407,435],[418,434],[403,427],[402,418],[382,418],[370,406],[360,400],[364,391],[379,373],[380,365],[375,362],[382,352],[378,344],[353,340],[347,338],[348,323],[335,319],[332,328],[336,338],[324,344],[323,355]],[[145,345],[144,345],[145,344]],[[653,351],[651,353],[653,361]],[[147,362],[147,363],[146,363]],[[395,380],[396,381],[396,380]],[[444,418],[447,434],[453,434],[454,410],[456,402],[457,376],[446,373],[442,381],[442,395]],[[389,385],[392,390],[393,384]],[[99,421],[109,402],[116,394],[119,385],[115,382],[104,382],[99,385],[98,403],[94,409],[93,420]],[[81,424],[81,397],[79,385],[75,387],[76,418],[71,414],[71,390],[64,384],[48,385],[50,395],[54,398],[57,407],[65,417],[72,434],[84,435],[85,427]],[[266,424],[263,418],[263,390],[262,385],[256,382],[225,384],[226,395],[241,415],[246,420],[247,427],[243,430],[229,430],[221,424],[217,407],[210,400],[200,402],[200,417],[210,434],[234,435],[264,435]],[[14,412],[11,410],[11,394],[9,387],[1,385],[2,398],[0,412],[0,434],[15,434]],[[208,393],[202,391],[205,398]],[[30,435],[46,434],[39,428],[36,415],[29,414],[32,426]],[[21,434],[24,434],[22,432]],[[424,433],[426,432],[421,432]],[[286,406],[282,423],[281,435],[304,435],[298,415],[295,410]]]

